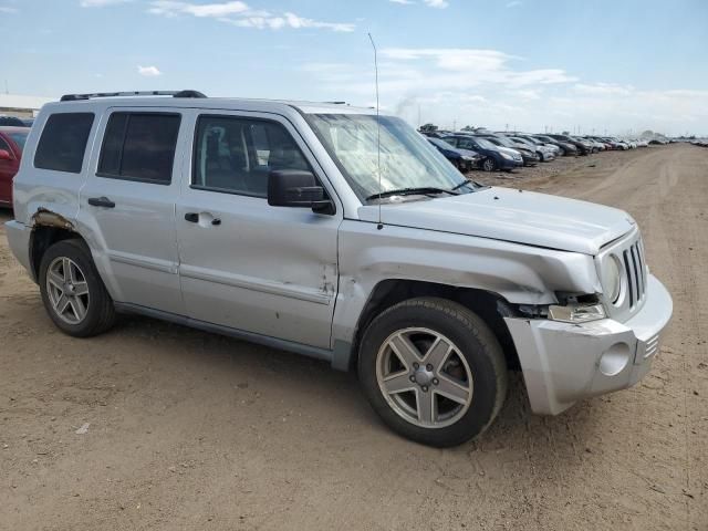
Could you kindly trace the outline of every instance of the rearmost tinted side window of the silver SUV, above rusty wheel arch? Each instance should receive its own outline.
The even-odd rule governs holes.
[[[93,113],[52,114],[37,146],[34,167],[80,174]]]

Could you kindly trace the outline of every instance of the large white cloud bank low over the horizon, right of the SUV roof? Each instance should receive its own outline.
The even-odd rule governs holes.
[[[379,51],[382,108],[409,123],[451,127],[456,122],[539,132],[668,134],[708,132],[708,90],[641,90],[580,80],[562,69],[524,69],[524,60],[498,50],[389,48]],[[369,102],[374,71],[368,63],[302,66],[322,100]]]

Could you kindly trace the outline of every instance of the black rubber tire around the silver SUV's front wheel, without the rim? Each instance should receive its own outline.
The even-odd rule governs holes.
[[[407,420],[389,405],[378,384],[379,350],[396,331],[412,327],[429,329],[449,339],[469,366],[471,404],[454,424],[423,427]],[[489,326],[461,304],[437,298],[410,299],[376,316],[362,339],[358,376],[372,407],[389,428],[440,448],[460,445],[483,433],[501,409],[508,386],[504,355]]]

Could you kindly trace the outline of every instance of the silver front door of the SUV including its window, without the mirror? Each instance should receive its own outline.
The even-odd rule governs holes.
[[[337,282],[335,215],[271,207],[273,169],[312,170],[316,160],[284,118],[204,112],[176,208],[187,315],[327,348]],[[330,190],[331,194],[331,190]]]

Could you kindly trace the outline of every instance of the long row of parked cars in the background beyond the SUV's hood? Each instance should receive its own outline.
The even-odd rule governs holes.
[[[460,171],[511,171],[550,163],[558,157],[591,155],[612,149],[648,147],[647,140],[621,140],[604,136],[529,134],[521,132],[419,129]]]

